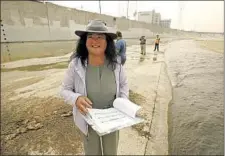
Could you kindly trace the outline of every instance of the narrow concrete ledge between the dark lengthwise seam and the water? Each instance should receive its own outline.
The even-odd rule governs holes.
[[[154,115],[150,129],[150,138],[145,155],[168,155],[168,106],[172,100],[172,85],[165,63],[161,63],[161,72],[155,99]]]

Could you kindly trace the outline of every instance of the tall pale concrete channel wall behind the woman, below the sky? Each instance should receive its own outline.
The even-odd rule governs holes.
[[[2,42],[74,40],[76,29],[85,29],[91,19],[102,19],[110,30],[121,30],[124,37],[136,38],[153,33],[177,33],[157,25],[131,21],[35,1],[1,1]],[[136,30],[136,31],[134,31]],[[4,39],[6,38],[6,40]]]

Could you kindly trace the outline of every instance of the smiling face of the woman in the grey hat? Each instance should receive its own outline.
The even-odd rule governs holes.
[[[88,53],[92,55],[104,55],[107,46],[106,35],[97,33],[88,33],[86,47]]]

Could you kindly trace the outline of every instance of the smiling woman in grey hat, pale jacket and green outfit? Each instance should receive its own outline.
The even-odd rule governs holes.
[[[82,115],[87,113],[87,108],[109,108],[115,98],[129,96],[124,69],[117,62],[113,41],[117,36],[108,32],[106,24],[100,20],[91,21],[86,31],[75,31],[75,34],[80,39],[76,53],[71,56],[61,96],[73,106],[75,124],[84,134],[85,154],[116,155],[119,132],[104,135],[100,140]]]

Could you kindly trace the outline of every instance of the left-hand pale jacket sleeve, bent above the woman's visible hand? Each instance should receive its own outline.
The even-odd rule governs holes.
[[[80,93],[76,93],[74,84],[75,84],[75,63],[72,60],[69,63],[68,69],[65,73],[64,80],[62,82],[60,96],[64,101],[70,105],[74,105],[77,101],[77,98],[81,96]]]

